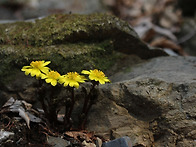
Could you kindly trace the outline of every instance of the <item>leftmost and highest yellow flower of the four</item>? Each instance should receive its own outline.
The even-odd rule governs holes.
[[[45,67],[50,64],[50,61],[32,61],[30,66],[23,66],[21,69],[25,72],[25,75],[31,74],[31,76],[36,76],[36,78],[40,77],[41,73],[48,73],[49,67]]]

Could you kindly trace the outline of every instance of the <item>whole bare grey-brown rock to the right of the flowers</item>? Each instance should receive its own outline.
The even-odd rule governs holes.
[[[196,145],[196,58],[161,57],[101,87],[88,129],[133,145]],[[122,81],[121,81],[122,80]]]

